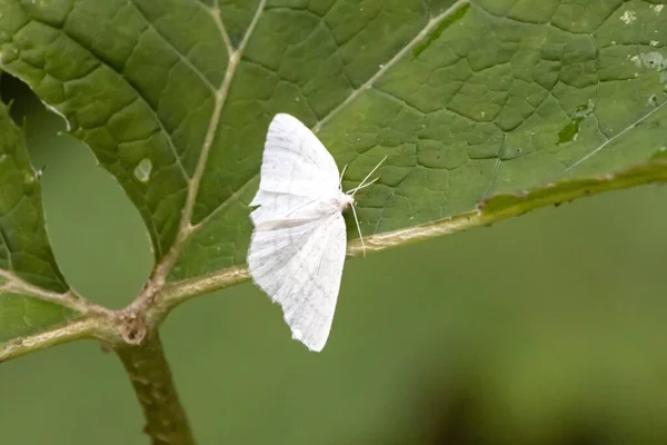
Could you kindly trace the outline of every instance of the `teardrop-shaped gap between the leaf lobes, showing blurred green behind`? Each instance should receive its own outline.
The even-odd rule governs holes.
[[[63,119],[48,111],[24,83],[3,73],[0,89],[3,101],[13,102],[14,121],[26,128],[32,165],[48,167],[40,178],[42,200],[62,274],[86,298],[110,307],[127,305],[152,266],[139,211],[116,179],[98,167],[90,148],[63,135]]]

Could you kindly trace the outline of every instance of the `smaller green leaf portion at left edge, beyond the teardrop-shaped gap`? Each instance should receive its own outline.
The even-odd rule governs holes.
[[[70,319],[71,310],[38,299],[68,290],[47,238],[39,174],[0,103],[0,345]]]

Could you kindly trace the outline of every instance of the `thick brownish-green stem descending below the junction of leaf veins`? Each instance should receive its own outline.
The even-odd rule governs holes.
[[[195,436],[178,398],[157,332],[139,346],[121,346],[120,357],[146,417],[145,433],[153,445],[195,445]]]

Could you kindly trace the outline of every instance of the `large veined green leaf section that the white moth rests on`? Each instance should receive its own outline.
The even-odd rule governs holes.
[[[158,273],[182,280],[245,263],[279,111],[348,165],[345,188],[389,157],[358,199],[370,244],[492,222],[502,211],[478,202],[496,195],[534,208],[552,184],[571,199],[589,180],[663,180],[660,161],[616,180],[667,145],[660,3],[0,0],[0,56],[126,189]]]

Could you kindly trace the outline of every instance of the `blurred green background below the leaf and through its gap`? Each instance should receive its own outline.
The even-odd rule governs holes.
[[[16,80],[56,256],[128,304],[151,256],[138,212]],[[201,444],[667,443],[667,190],[643,187],[347,263],[308,353],[243,284],[162,329]],[[1,444],[146,444],[118,359],[93,342],[0,365]]]

